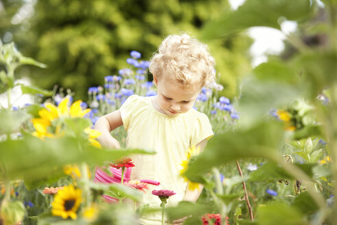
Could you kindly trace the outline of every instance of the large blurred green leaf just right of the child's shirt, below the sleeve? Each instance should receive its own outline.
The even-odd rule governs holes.
[[[216,135],[200,156],[188,164],[186,176],[192,178],[194,174],[239,158],[271,158],[277,154],[283,133],[281,123],[268,121],[255,124],[251,128]]]

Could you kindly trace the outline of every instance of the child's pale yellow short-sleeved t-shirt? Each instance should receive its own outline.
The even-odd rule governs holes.
[[[135,167],[132,180],[150,179],[160,182],[160,186],[149,185],[142,204],[160,207],[160,199],[151,191],[168,189],[176,194],[167,200],[166,206],[175,206],[182,201],[187,183],[179,176],[180,165],[186,159],[185,152],[213,136],[208,117],[192,108],[188,112],[170,117],[152,105],[153,97],[130,96],[121,106],[121,117],[127,131],[127,147],[155,150],[156,154],[132,156]],[[145,215],[141,224],[161,224],[161,214]]]

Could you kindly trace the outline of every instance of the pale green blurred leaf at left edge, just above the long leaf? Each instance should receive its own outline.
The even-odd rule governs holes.
[[[7,108],[0,109],[0,134],[10,134],[18,131],[21,124],[29,119],[30,115],[23,110],[8,111]]]

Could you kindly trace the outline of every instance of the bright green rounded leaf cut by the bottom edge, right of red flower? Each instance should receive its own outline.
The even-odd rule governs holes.
[[[281,202],[259,206],[256,219],[260,225],[275,224],[275,221],[277,225],[308,224],[297,208]]]

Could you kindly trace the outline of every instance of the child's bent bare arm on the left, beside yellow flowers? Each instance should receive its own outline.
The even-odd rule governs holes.
[[[97,138],[99,143],[105,147],[110,148],[121,148],[119,142],[111,136],[110,131],[123,125],[123,120],[121,117],[121,112],[116,110],[110,112],[103,117],[97,119],[95,123],[95,130],[99,130],[102,134]]]

